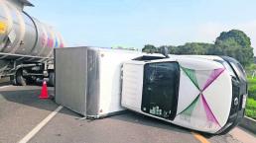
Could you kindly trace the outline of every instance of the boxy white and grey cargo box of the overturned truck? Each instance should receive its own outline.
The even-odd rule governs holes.
[[[56,48],[56,102],[93,118],[124,110],[122,63],[141,54],[99,47]]]

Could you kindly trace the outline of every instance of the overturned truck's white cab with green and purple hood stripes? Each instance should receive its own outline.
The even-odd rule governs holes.
[[[220,56],[141,56],[123,64],[121,105],[194,130],[226,133],[247,97],[242,66]]]

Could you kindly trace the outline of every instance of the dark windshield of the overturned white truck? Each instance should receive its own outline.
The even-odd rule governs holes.
[[[180,66],[177,62],[146,64],[142,111],[167,119],[175,117],[179,77]]]

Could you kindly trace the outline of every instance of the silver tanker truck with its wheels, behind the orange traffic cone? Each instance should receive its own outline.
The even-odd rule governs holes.
[[[62,36],[24,11],[27,0],[0,0],[0,79],[25,86],[47,80],[54,86],[53,51]]]

